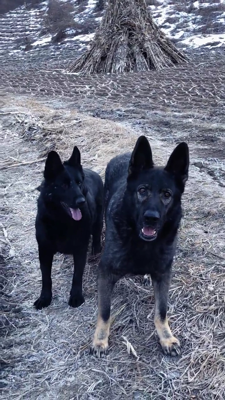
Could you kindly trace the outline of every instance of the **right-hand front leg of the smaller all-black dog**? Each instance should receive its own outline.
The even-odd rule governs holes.
[[[74,260],[74,272],[72,278],[72,287],[70,290],[69,306],[79,307],[84,303],[84,297],[82,295],[82,284],[84,267],[86,264],[88,246],[84,246],[82,249],[78,248],[73,254]]]

